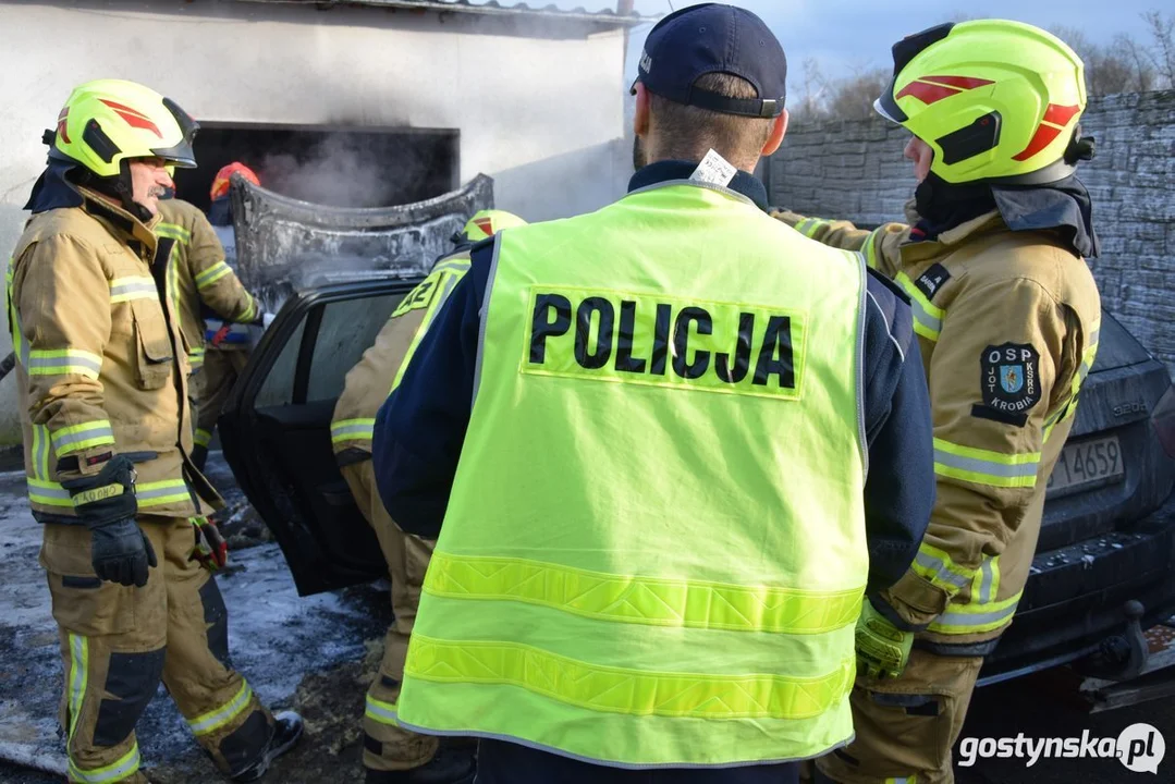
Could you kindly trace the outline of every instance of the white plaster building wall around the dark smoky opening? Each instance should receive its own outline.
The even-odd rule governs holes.
[[[461,130],[461,179],[497,180],[528,220],[623,193],[620,29],[463,13],[179,2],[0,0],[0,253],[40,174],[41,132],[76,83],[132,79],[200,120]],[[0,336],[0,356],[11,346]],[[19,441],[12,380],[0,443]]]

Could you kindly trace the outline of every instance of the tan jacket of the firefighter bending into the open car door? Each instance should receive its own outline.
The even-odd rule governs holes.
[[[371,456],[375,415],[400,383],[408,360],[466,272],[469,250],[439,259],[429,276],[400,302],[375,344],[347,374],[330,422],[336,457],[348,453],[347,462],[356,462]]]

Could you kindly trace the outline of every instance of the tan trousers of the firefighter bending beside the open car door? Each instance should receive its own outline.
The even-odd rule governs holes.
[[[396,614],[384,636],[380,671],[368,688],[363,715],[363,765],[371,770],[410,770],[429,762],[439,746],[438,738],[403,730],[395,719],[408,641],[421,604],[424,572],[436,542],[400,530],[380,500],[370,460],[344,465],[341,470],[360,511],[380,540],[391,578],[391,609]]]

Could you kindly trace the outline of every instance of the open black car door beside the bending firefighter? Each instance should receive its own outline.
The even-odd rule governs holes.
[[[335,464],[330,417],[347,371],[419,281],[385,277],[291,295],[219,422],[224,456],[302,596],[388,572]]]

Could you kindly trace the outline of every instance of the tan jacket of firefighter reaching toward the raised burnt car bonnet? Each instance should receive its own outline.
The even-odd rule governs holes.
[[[244,334],[244,324],[260,323],[261,309],[236,273],[224,261],[224,249],[212,223],[195,205],[179,199],[159,202],[155,234],[175,240],[167,262],[167,299],[180,314],[188,363],[195,370],[204,363],[206,324],[201,303]],[[208,329],[217,331],[223,322],[209,319]],[[220,348],[247,348],[244,342],[224,343]]]

